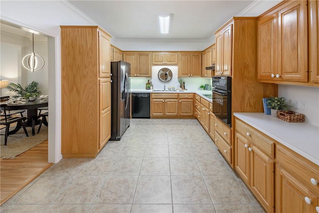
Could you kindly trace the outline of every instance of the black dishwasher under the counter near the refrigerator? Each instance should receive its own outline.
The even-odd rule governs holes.
[[[150,93],[132,93],[132,118],[150,118]]]

